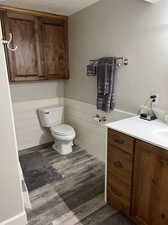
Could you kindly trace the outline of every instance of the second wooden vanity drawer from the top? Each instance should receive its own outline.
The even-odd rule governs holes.
[[[108,176],[110,173],[119,176],[124,182],[131,183],[132,176],[132,155],[123,152],[119,148],[109,144],[108,146],[108,157],[107,157],[107,168]]]

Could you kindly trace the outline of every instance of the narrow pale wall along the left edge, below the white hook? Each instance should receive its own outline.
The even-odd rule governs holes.
[[[2,38],[0,30],[0,39]],[[17,143],[14,129],[12,104],[4,49],[0,43],[0,224],[5,223],[10,218],[15,218],[19,224],[26,224],[23,210],[21,184],[18,173]],[[19,215],[19,216],[18,216]],[[17,217],[17,218],[16,218]],[[11,225],[16,220],[9,221]],[[16,223],[15,223],[16,224]]]

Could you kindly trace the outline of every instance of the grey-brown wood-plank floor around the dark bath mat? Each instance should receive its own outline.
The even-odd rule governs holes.
[[[63,178],[30,192],[28,225],[132,224],[104,202],[102,162],[78,147],[67,156],[51,148],[36,151],[47,157]]]

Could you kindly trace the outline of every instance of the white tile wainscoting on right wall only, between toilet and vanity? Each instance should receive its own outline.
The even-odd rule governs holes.
[[[65,122],[72,125],[77,133],[75,142],[102,161],[105,160],[107,128],[102,123],[98,124],[94,116],[106,116],[107,122],[110,122],[135,115],[118,109],[106,114],[97,111],[95,105],[69,98],[64,99],[64,105]]]

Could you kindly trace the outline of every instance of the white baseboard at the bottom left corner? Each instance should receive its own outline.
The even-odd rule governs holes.
[[[26,225],[26,224],[27,224],[27,216],[25,212],[19,213],[18,215],[0,223],[0,225]]]

